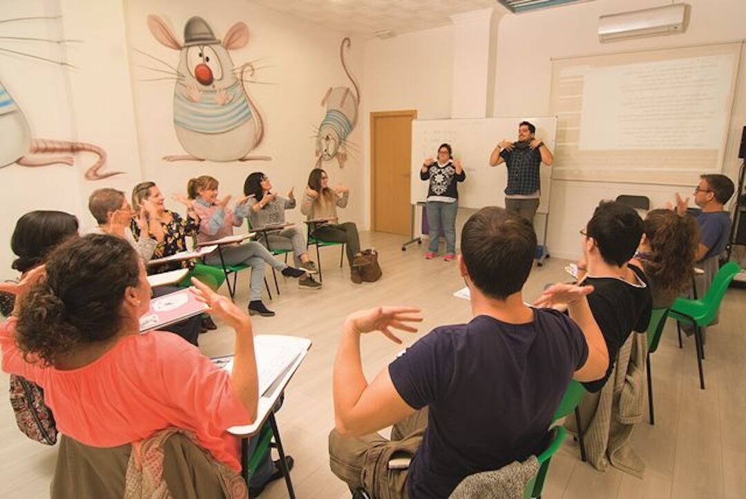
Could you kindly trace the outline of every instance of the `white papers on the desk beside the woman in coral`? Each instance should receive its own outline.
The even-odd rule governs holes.
[[[310,344],[310,340],[295,336],[272,334],[254,336],[260,397],[271,392],[272,386],[295,365],[298,357],[310,348]],[[233,356],[213,357],[213,363],[231,371]]]

